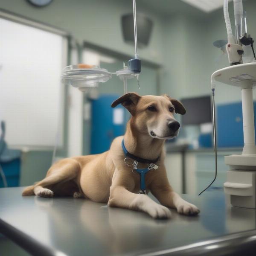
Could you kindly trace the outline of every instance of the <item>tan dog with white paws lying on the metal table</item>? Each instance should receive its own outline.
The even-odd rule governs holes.
[[[182,214],[197,215],[199,210],[195,205],[173,192],[164,166],[163,145],[166,139],[177,136],[180,124],[173,115],[185,114],[183,105],[166,95],[139,96],[136,93],[121,96],[111,106],[114,108],[120,103],[131,113],[131,119],[125,135],[115,138],[109,151],[58,161],[49,169],[44,180],[26,188],[22,195],[73,195],[108,202],[110,207],[147,212],[153,218],[170,218],[171,212],[167,207],[176,208]],[[160,156],[155,163],[159,168],[145,175],[145,184],[147,192],[150,191],[162,205],[147,195],[138,194],[140,175],[125,164],[123,139],[128,152],[136,157],[150,161]],[[138,164],[138,168],[147,167],[146,163]]]

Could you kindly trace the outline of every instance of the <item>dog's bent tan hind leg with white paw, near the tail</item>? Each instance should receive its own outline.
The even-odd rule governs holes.
[[[68,180],[73,180],[77,177],[81,170],[79,162],[75,159],[68,158],[54,164],[48,171],[47,177],[38,182],[34,187],[35,195],[41,197],[52,197],[54,192],[47,187]]]

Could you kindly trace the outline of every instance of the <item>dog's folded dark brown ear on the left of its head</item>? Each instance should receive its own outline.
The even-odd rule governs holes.
[[[114,108],[121,103],[132,115],[134,115],[140,97],[141,96],[137,93],[126,93],[120,98],[116,99],[111,104],[111,107]]]

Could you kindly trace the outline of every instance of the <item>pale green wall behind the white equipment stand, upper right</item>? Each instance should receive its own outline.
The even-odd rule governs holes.
[[[256,38],[256,1],[244,1],[244,9],[248,32]],[[229,4],[229,12],[234,24],[233,3]],[[164,23],[161,93],[178,99],[209,95],[211,74],[229,65],[227,55],[213,46],[214,41],[227,38],[223,10],[205,17],[176,14],[166,17]],[[218,84],[215,95],[217,104],[241,101],[239,88],[229,85]]]

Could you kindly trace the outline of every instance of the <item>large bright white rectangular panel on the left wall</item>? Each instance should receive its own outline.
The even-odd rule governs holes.
[[[0,120],[6,142],[16,147],[63,144],[61,71],[67,40],[0,18]]]

